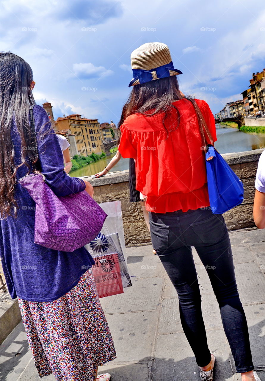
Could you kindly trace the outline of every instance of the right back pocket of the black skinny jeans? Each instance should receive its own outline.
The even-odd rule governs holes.
[[[210,218],[196,221],[190,224],[190,228],[195,233],[196,243],[217,243],[225,234],[227,229],[222,215],[212,215]]]

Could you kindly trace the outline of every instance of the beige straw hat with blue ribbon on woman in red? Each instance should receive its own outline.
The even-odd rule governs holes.
[[[173,66],[171,54],[166,44],[147,42],[131,54],[133,79],[129,87],[156,79],[182,74]]]

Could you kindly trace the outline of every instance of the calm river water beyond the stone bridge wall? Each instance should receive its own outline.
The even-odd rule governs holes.
[[[250,132],[238,131],[237,128],[226,127],[216,124],[217,142],[215,143],[216,149],[220,154],[227,154],[230,152],[251,151],[253,149],[265,147],[265,133],[257,134]],[[99,160],[95,163],[86,165],[76,171],[70,173],[70,176],[91,176],[97,172],[104,170],[105,166],[110,162],[115,153]],[[121,158],[121,160],[110,170],[123,171],[129,168],[129,159]]]

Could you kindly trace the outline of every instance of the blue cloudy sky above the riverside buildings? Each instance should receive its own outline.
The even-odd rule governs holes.
[[[2,0],[0,50],[34,71],[38,104],[54,117],[81,114],[117,123],[132,78],[131,52],[160,41],[171,50],[180,89],[213,113],[265,67],[264,1]]]

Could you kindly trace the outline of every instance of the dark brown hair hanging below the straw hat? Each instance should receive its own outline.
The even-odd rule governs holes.
[[[118,128],[122,125],[126,117],[135,114],[136,112],[146,115],[147,117],[164,113],[164,125],[172,108],[177,110],[178,117],[175,126],[175,128],[177,128],[179,125],[180,114],[179,110],[172,104],[172,102],[183,98],[186,97],[179,91],[179,83],[176,75],[160,78],[140,85],[134,85],[128,101],[123,106]],[[188,98],[189,97],[187,97],[187,99]],[[166,129],[165,125],[164,128]]]

